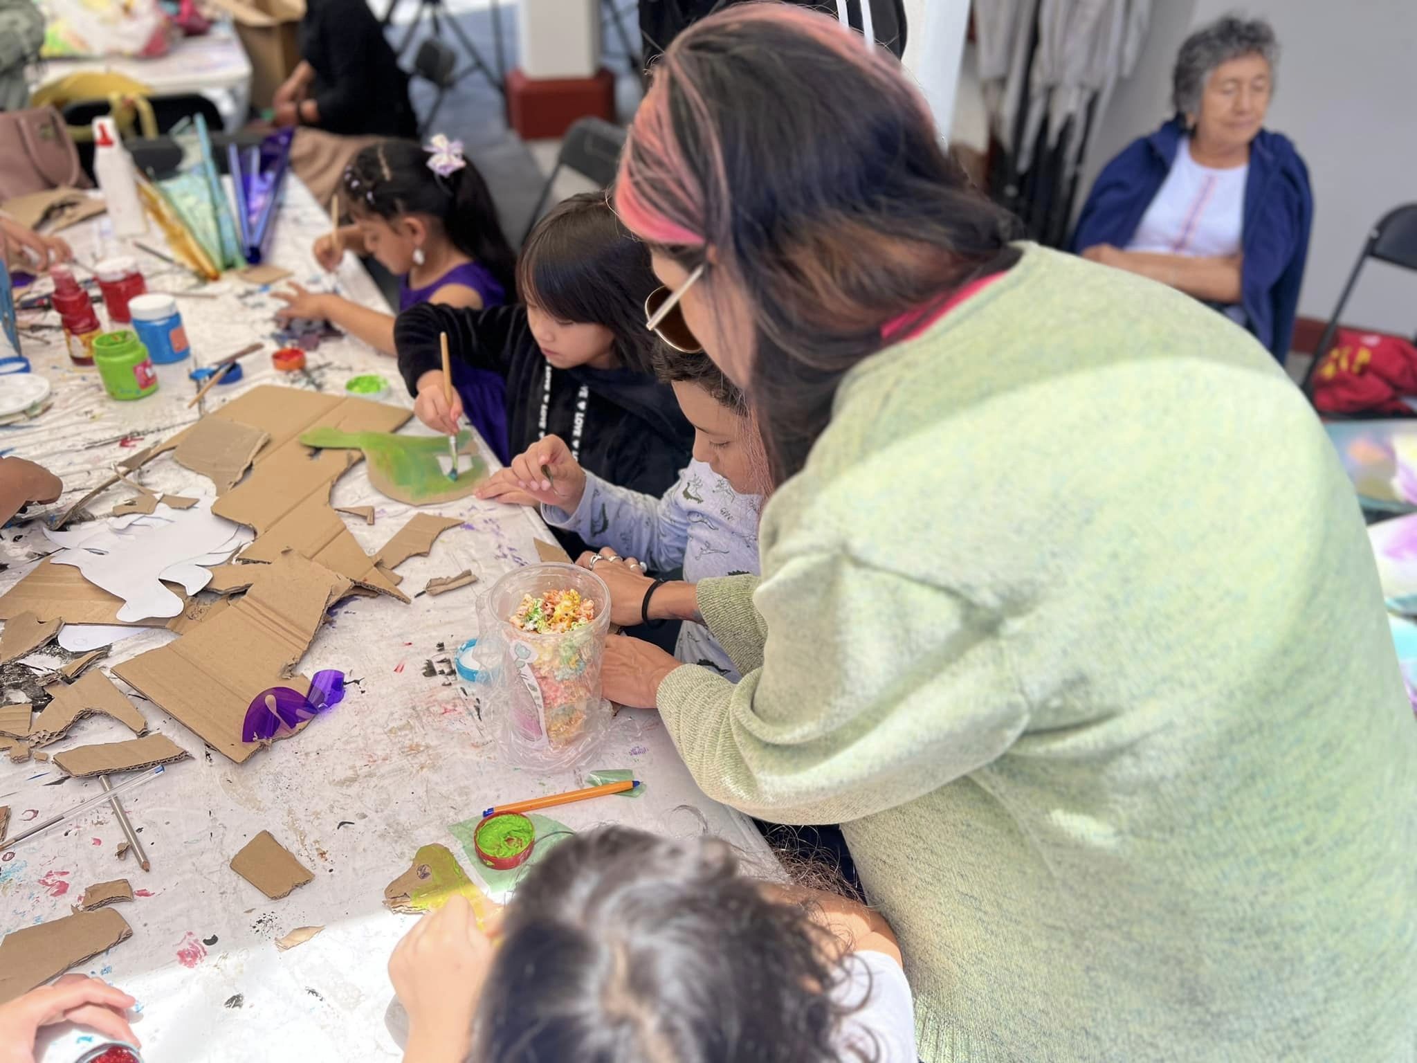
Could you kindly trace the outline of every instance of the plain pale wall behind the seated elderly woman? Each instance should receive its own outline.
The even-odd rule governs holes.
[[[1186,33],[1234,10],[1268,18],[1280,38],[1265,125],[1309,166],[1315,217],[1299,313],[1326,320],[1369,227],[1417,201],[1417,0],[1155,0],[1142,62],[1117,89],[1083,187],[1168,115],[1162,89]],[[1369,264],[1343,319],[1413,334],[1417,274]]]

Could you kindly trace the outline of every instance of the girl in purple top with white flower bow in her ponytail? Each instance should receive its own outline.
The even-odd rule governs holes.
[[[418,303],[483,310],[514,302],[516,255],[459,142],[438,135],[425,146],[373,145],[354,156],[343,187],[353,224],[315,241],[323,268],[334,269],[344,251],[373,255],[401,278],[400,312]],[[381,354],[395,353],[391,313],[295,283],[276,295],[286,302],[281,319],[323,317]]]

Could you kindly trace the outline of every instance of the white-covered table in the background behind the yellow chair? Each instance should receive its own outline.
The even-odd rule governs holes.
[[[251,108],[251,60],[230,18],[214,21],[203,37],[179,38],[156,60],[126,55],[45,60],[30,67],[30,91],[81,71],[122,74],[142,81],[160,96],[200,92],[217,105],[228,132],[245,123]]]

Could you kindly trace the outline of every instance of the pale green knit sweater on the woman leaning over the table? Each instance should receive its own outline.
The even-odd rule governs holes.
[[[708,797],[840,822],[925,1060],[1417,1057],[1417,726],[1270,354],[1026,245],[842,384],[659,709]]]

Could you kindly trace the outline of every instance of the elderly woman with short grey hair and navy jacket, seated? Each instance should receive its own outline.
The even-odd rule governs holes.
[[[1263,20],[1226,17],[1176,57],[1176,116],[1107,164],[1073,249],[1195,296],[1281,363],[1309,247],[1309,174],[1263,129],[1278,45]]]

